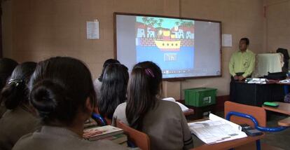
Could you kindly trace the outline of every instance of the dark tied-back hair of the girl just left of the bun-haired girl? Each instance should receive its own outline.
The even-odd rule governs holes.
[[[36,62],[23,62],[15,67],[10,80],[0,95],[0,102],[4,102],[7,109],[15,109],[20,104],[29,104],[27,85],[35,67]]]

